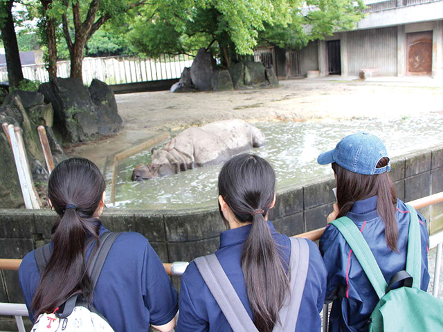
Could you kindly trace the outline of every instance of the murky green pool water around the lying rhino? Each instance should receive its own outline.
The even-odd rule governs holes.
[[[390,157],[443,142],[443,117],[422,116],[398,120],[343,120],[339,122],[259,122],[266,145],[252,149],[269,160],[278,190],[316,176],[332,174],[316,163],[318,154],[333,149],[343,136],[369,131],[385,142]],[[130,176],[138,163],[147,163],[150,151],[120,162],[115,208],[174,209],[216,203],[219,166],[202,167],[172,176],[134,183]]]

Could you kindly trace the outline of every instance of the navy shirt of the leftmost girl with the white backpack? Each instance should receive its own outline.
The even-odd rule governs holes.
[[[108,232],[102,225],[100,234]],[[19,280],[30,318],[30,306],[40,274],[35,251],[21,262]],[[98,278],[93,305],[114,331],[148,331],[150,324],[163,325],[177,313],[177,292],[163,264],[142,234],[124,232],[116,239]]]

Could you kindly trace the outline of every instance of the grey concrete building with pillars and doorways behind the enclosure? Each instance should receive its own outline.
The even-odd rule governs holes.
[[[368,14],[356,30],[335,33],[298,51],[274,48],[277,74],[443,77],[443,0],[366,0],[365,4]],[[260,52],[265,49],[259,48],[256,55]]]

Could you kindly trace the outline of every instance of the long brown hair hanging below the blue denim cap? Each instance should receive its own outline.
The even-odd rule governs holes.
[[[388,165],[389,158],[381,158],[377,168]],[[337,203],[340,211],[337,218],[350,212],[356,201],[368,199],[377,195],[377,212],[385,223],[386,244],[393,251],[397,251],[399,232],[395,219],[394,183],[388,172],[375,175],[358,174],[344,169],[337,163],[332,163],[332,169],[337,176]]]

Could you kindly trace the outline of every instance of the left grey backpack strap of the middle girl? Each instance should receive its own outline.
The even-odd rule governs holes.
[[[231,329],[234,332],[258,332],[215,254],[194,261]]]

